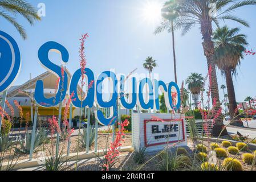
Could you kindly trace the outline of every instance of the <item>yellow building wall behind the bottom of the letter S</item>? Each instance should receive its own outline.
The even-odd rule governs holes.
[[[23,117],[26,118],[27,113],[29,113],[29,120],[31,120],[31,110],[30,110],[30,106],[22,106],[22,111],[23,111]],[[62,118],[64,115],[64,109],[62,108]],[[74,117],[74,110],[75,108],[72,109],[72,118]],[[33,113],[35,114],[35,109],[33,110]],[[38,107],[38,113],[39,115],[44,115],[44,116],[51,116],[51,115],[59,115],[59,110],[56,109],[55,107]],[[68,114],[67,118],[70,118],[70,114]]]

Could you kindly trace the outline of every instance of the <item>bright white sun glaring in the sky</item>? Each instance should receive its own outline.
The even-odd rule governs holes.
[[[162,5],[160,2],[151,1],[143,7],[143,18],[149,23],[157,23],[161,20]]]

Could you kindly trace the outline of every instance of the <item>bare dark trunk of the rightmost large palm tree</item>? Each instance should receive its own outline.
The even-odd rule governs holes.
[[[227,83],[227,94],[229,95],[229,114],[231,119],[230,125],[243,126],[243,123],[240,121],[240,117],[238,116],[239,112],[237,110],[237,101],[235,99],[235,90],[230,69],[225,71],[225,76]]]

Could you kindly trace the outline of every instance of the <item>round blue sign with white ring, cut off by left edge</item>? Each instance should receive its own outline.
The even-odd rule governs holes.
[[[15,40],[0,31],[0,93],[15,81],[21,69],[21,53]]]

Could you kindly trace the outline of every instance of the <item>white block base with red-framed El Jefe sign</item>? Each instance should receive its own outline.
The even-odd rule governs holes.
[[[187,146],[186,123],[181,114],[133,113],[133,146],[155,152],[166,146]]]

